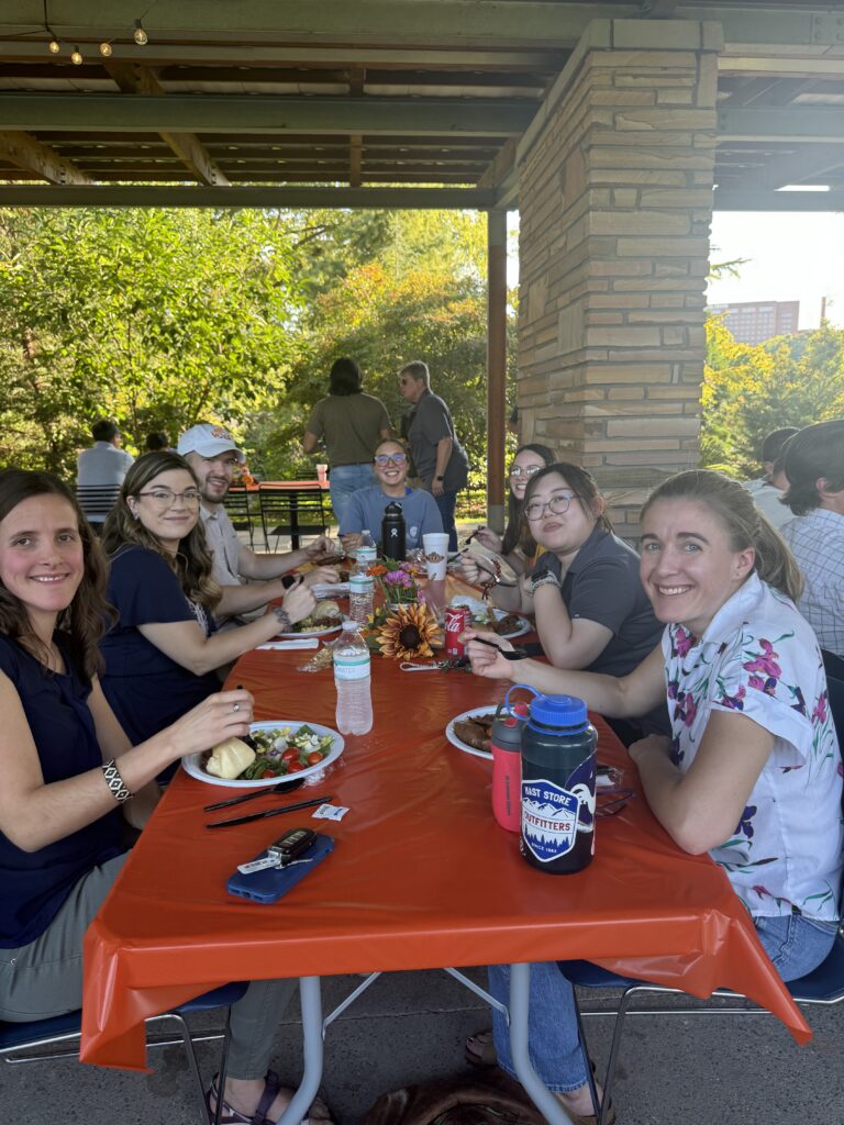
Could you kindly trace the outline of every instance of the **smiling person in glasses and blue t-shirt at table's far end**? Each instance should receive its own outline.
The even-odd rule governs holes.
[[[402,505],[407,550],[421,547],[422,536],[429,531],[442,532],[433,496],[421,488],[407,487],[407,454],[401,442],[392,438],[383,441],[375,451],[374,467],[378,484],[352,493],[340,521],[340,538],[347,551],[358,547],[365,528],[376,542],[380,539],[384,510],[394,501]]]

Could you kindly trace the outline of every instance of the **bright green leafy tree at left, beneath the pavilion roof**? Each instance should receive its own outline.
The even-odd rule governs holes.
[[[0,210],[0,459],[73,476],[91,423],[129,446],[282,394],[302,300],[260,212]]]

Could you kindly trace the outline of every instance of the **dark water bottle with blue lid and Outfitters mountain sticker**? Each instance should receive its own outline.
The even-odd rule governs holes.
[[[583,700],[515,687],[535,695],[522,729],[522,855],[540,871],[571,875],[595,850],[598,735]]]

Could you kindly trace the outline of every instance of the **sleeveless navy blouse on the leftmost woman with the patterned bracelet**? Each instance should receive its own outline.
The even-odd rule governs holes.
[[[16,640],[0,634],[0,670],[20,696],[47,784],[102,765],[88,709],[91,685],[71,666],[61,633],[55,641],[66,674],[48,672]],[[18,948],[39,937],[79,880],[125,850],[120,827],[115,807],[37,852],[23,852],[0,832],[0,947]]]

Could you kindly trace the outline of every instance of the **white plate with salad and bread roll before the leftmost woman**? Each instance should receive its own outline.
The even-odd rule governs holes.
[[[253,722],[246,739],[227,738],[212,750],[186,755],[181,763],[186,773],[209,785],[259,789],[324,770],[344,745],[343,736],[331,727],[280,719]]]

